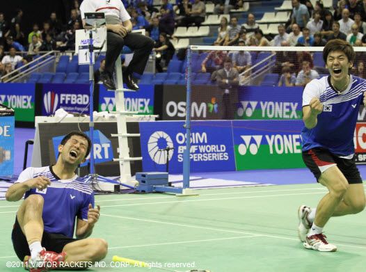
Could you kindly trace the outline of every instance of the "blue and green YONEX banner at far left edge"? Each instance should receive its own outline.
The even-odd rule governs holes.
[[[34,122],[35,84],[0,83],[0,104],[15,111],[15,121]]]

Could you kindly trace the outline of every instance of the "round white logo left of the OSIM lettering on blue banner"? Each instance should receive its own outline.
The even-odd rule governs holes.
[[[166,147],[173,148],[173,141],[164,131],[155,131],[148,141],[148,152],[150,158],[157,164],[166,163]],[[169,161],[173,157],[174,150],[169,151]]]

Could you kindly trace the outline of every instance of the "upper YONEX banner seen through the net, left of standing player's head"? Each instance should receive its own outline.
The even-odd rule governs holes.
[[[300,87],[241,86],[235,119],[301,119],[302,94]]]

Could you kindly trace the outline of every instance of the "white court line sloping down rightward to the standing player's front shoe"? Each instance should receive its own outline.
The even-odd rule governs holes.
[[[164,222],[164,221],[154,221],[154,220],[133,218],[133,217],[127,217],[127,216],[113,216],[111,214],[102,214],[102,215],[103,216],[116,217],[116,218],[122,218],[122,219],[130,219],[130,220],[134,220],[134,221],[144,221],[144,222],[158,223],[158,224],[164,224],[164,225],[176,225],[176,226],[180,226],[180,227],[192,227],[192,228],[202,229],[202,230],[216,230],[218,232],[231,232],[231,233],[238,233],[238,234],[248,234],[248,235],[250,235],[250,237],[253,237],[253,238],[254,237],[268,237],[268,238],[275,238],[275,239],[286,239],[286,240],[291,240],[291,241],[299,241],[299,239],[296,239],[296,238],[289,238],[289,237],[262,234],[262,233],[239,232],[239,231],[236,231],[236,230],[224,230],[224,229],[218,229],[218,228],[214,228],[214,227],[200,227],[198,225],[187,225],[187,224],[170,223],[170,222]],[[346,246],[348,248],[360,248],[360,249],[365,249],[366,250],[366,246],[352,246],[352,245],[345,245],[344,243],[337,243],[337,246]]]

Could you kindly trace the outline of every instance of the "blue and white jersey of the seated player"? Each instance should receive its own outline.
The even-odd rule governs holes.
[[[59,179],[49,166],[26,168],[19,175],[17,182],[25,182],[41,175],[48,177],[51,185],[42,191],[26,191],[24,198],[32,194],[42,195],[45,200],[42,214],[45,231],[73,237],[75,218],[87,221],[89,203],[94,207],[93,190],[77,175],[72,179]]]

